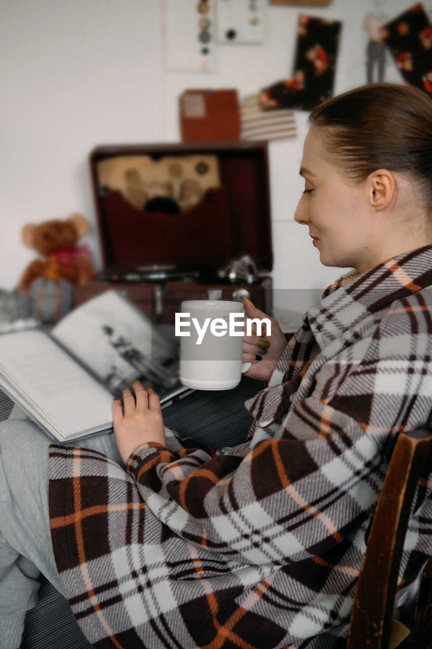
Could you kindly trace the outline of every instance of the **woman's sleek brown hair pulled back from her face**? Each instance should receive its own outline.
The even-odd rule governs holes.
[[[331,97],[311,111],[331,158],[362,182],[377,169],[402,171],[432,209],[432,99],[414,86],[370,84]]]

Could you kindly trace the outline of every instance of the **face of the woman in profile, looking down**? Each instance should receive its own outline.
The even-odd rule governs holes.
[[[300,175],[305,190],[294,219],[309,227],[325,266],[354,267],[360,273],[376,265],[376,232],[366,184],[355,185],[330,158],[318,127],[307,134]]]

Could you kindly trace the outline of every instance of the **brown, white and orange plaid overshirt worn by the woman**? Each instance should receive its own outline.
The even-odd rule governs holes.
[[[398,432],[431,421],[432,247],[350,273],[309,309],[245,443],[145,444],[127,473],[51,447],[56,564],[98,648],[344,646]],[[431,476],[399,587],[432,553]]]

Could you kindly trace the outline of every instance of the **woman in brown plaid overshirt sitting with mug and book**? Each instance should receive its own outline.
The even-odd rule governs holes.
[[[52,553],[47,480],[34,476],[45,437],[22,421],[0,435],[11,503],[0,548],[21,568],[27,607],[36,565],[96,646],[344,644],[394,441],[431,421],[432,104],[414,88],[377,84],[326,101],[310,120],[295,219],[324,265],[354,271],[288,345],[274,322],[271,337],[245,337],[248,375],[268,383],[246,402],[245,443],[183,448],[157,395],[134,384],[113,406],[127,473],[108,459],[112,436],[83,442],[103,454],[51,447]],[[10,459],[17,443],[34,458],[38,493],[27,498],[22,454],[15,467]],[[432,552],[431,529],[428,487],[410,520],[400,594]],[[15,649],[22,614],[12,624],[6,609],[4,646]]]

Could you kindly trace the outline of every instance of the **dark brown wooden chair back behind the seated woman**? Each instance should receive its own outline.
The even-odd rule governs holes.
[[[347,649],[388,649],[398,572],[418,481],[432,472],[432,428],[400,433],[370,528]],[[400,649],[432,647],[432,559],[424,569],[416,620]]]

